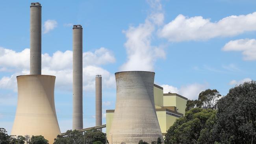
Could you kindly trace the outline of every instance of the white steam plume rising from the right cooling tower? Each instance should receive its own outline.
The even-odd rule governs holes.
[[[149,1],[153,12],[146,18],[145,23],[139,26],[130,26],[123,31],[127,41],[124,46],[127,53],[127,61],[121,66],[121,70],[154,70],[154,62],[158,58],[164,58],[165,52],[161,46],[152,46],[152,35],[155,26],[163,23],[163,13],[159,0]]]

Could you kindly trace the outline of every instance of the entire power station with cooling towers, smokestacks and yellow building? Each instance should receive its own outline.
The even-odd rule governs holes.
[[[54,103],[55,76],[41,75],[41,4],[30,6],[30,75],[17,76],[18,103],[11,135],[43,135],[50,144],[60,135]],[[187,98],[163,94],[154,72],[116,72],[115,110],[106,110],[102,125],[102,77],[95,76],[95,127],[83,129],[83,28],[73,28],[72,129],[84,132],[106,127],[111,144],[148,143],[163,135],[185,114]],[[66,135],[62,133],[61,135]]]

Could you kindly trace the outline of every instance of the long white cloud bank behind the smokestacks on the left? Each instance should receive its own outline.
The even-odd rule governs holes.
[[[0,65],[4,68],[15,68],[16,72],[11,76],[0,79],[1,89],[13,89],[17,91],[16,76],[29,74],[29,49],[15,52],[9,49],[0,49]],[[6,57],[13,60],[6,63]],[[18,59],[19,61],[16,61]],[[95,75],[102,75],[103,88],[115,86],[115,76],[100,67],[108,63],[114,63],[115,57],[106,48],[96,49],[95,52],[83,53],[83,89],[94,90]],[[5,69],[4,69],[5,70]],[[56,76],[56,89],[72,90],[72,51],[57,51],[52,56],[42,54],[42,74]]]

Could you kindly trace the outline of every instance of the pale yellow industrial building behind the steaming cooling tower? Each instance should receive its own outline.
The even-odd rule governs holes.
[[[163,136],[177,118],[185,114],[187,98],[176,93],[163,93],[163,87],[154,84],[156,114]],[[106,110],[106,134],[109,135],[115,110]],[[136,116],[136,114],[134,114]]]

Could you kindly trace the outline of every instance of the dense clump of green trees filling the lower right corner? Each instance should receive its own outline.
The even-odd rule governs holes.
[[[170,127],[165,144],[256,144],[256,82],[246,82],[220,98],[205,90],[187,102],[187,112]]]

